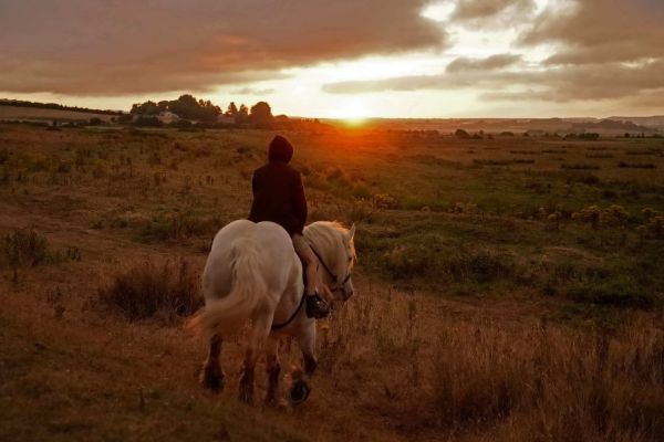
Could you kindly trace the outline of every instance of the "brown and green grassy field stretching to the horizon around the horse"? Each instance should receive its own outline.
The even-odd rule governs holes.
[[[320,324],[305,404],[239,404],[237,344],[226,391],[205,393],[205,344],[183,324],[273,135],[0,125],[0,440],[664,434],[650,138],[284,134],[310,221],[357,225],[356,294]],[[113,296],[120,283],[145,298]]]

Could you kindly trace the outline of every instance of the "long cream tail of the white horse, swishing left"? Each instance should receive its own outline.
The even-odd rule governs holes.
[[[245,325],[267,301],[260,254],[252,236],[240,236],[232,242],[230,293],[222,298],[206,299],[206,306],[187,323],[188,329],[206,336],[227,336]]]

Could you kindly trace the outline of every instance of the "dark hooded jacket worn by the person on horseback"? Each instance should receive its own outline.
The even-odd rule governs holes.
[[[302,233],[307,221],[307,199],[300,172],[288,164],[293,157],[292,145],[277,136],[270,143],[269,162],[253,171],[253,202],[249,220],[272,221],[292,236]]]

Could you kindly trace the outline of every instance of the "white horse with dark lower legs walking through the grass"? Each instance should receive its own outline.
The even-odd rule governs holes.
[[[350,230],[334,222],[319,221],[304,229],[304,238],[319,256],[319,291],[328,299],[347,299],[353,295],[351,271],[355,261]],[[298,339],[304,372],[317,367],[314,355],[315,320],[307,317],[302,263],[286,230],[273,222],[238,220],[221,229],[215,240],[203,274],[205,307],[189,326],[209,339],[209,354],[200,382],[218,392],[224,389],[220,352],[224,338],[238,332],[250,319],[239,399],[253,400],[253,369],[264,346],[269,387],[266,401],[279,402],[278,344],[284,335]],[[310,387],[294,373],[290,399],[302,402]]]

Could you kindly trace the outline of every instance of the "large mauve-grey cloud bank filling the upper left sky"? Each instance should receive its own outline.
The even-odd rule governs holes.
[[[442,48],[426,0],[0,3],[0,91],[209,91],[283,67]]]

